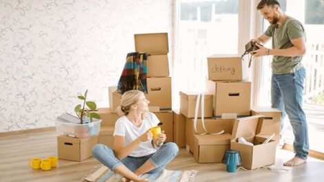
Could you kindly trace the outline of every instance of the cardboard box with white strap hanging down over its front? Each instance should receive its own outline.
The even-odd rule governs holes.
[[[185,117],[193,118],[196,111],[196,92],[180,91],[180,113]],[[204,117],[212,117],[212,94],[204,94]],[[201,99],[200,99],[201,101]],[[201,102],[199,102],[198,117],[201,117]]]

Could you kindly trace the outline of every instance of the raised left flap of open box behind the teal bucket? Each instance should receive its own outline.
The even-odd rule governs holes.
[[[256,129],[259,122],[263,121],[263,115],[253,115],[250,117],[241,117],[234,121],[232,140],[238,137],[252,137],[257,135]]]

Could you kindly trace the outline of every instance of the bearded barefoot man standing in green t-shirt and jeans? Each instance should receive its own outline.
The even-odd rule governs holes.
[[[303,82],[305,68],[301,60],[306,52],[305,30],[296,19],[287,16],[276,0],[261,0],[256,8],[269,21],[267,30],[256,38],[265,44],[272,38],[272,49],[256,44],[259,49],[251,52],[254,56],[272,55],[272,107],[287,113],[294,132],[295,157],[283,163],[298,166],[305,163],[308,150],[308,129],[303,104]]]

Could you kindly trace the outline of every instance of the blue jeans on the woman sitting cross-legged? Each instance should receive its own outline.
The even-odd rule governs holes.
[[[125,165],[129,170],[134,172],[136,169],[141,167],[145,161],[150,160],[155,166],[154,170],[151,170],[150,174],[163,170],[163,168],[179,153],[179,148],[173,142],[163,144],[159,150],[151,155],[144,157],[125,157],[121,160],[117,159],[114,155],[114,151],[103,144],[97,144],[92,148],[92,155],[98,159],[103,165],[114,170],[117,166]]]

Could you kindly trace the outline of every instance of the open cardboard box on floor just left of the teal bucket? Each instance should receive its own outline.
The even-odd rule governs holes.
[[[194,159],[198,163],[221,162],[230,149],[231,135],[194,135]]]

